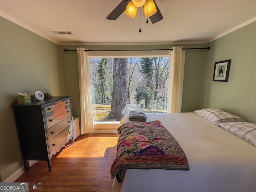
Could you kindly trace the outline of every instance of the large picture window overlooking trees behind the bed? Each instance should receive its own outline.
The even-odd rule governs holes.
[[[167,112],[169,57],[90,57],[94,122]]]

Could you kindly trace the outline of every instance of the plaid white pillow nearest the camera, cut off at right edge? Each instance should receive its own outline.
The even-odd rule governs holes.
[[[248,122],[228,122],[219,125],[230,133],[256,146],[256,124]]]

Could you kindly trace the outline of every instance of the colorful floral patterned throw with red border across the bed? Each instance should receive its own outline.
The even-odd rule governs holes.
[[[160,121],[127,122],[118,133],[117,157],[110,172],[119,183],[126,169],[189,170],[184,151]]]

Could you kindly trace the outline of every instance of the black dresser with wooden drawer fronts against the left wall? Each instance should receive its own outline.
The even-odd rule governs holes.
[[[51,171],[51,158],[73,140],[71,97],[52,97],[28,104],[12,103],[25,170],[29,160],[45,160]]]

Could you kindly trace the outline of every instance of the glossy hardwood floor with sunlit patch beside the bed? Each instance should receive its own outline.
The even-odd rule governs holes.
[[[46,161],[38,161],[14,182],[36,182],[36,192],[111,192],[114,179],[110,167],[116,158],[118,134],[84,134],[68,142],[52,157],[52,171]]]

